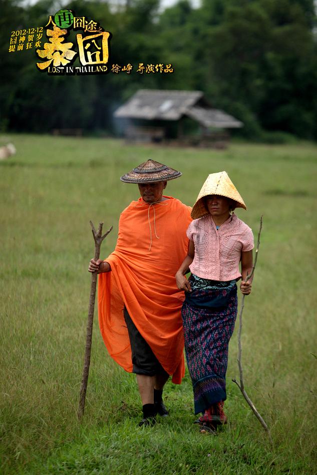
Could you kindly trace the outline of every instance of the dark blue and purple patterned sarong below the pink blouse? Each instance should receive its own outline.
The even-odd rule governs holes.
[[[182,318],[185,352],[193,384],[195,414],[226,399],[228,345],[237,315],[235,280],[219,282],[192,274]]]

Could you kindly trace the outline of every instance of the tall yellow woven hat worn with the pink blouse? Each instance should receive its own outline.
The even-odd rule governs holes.
[[[211,173],[208,175],[207,180],[199,192],[196,203],[193,206],[191,212],[193,219],[202,218],[208,214],[208,210],[205,208],[204,200],[202,199],[208,195],[225,196],[236,202],[236,208],[244,208],[246,210],[245,203],[230,180],[227,172]]]

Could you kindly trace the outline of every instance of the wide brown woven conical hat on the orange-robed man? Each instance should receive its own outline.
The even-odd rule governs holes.
[[[173,180],[181,176],[181,172],[167,167],[154,160],[147,160],[134,168],[131,172],[120,177],[125,183],[156,183]]]

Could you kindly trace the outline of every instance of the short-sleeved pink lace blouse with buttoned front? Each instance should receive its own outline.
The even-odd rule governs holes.
[[[241,277],[241,251],[254,247],[252,230],[234,213],[218,230],[210,214],[194,219],[187,237],[195,244],[190,271],[204,279],[228,281]]]

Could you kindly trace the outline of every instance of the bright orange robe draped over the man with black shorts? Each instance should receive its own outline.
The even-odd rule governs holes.
[[[111,272],[99,274],[98,314],[109,354],[126,371],[132,371],[132,356],[124,305],[172,381],[180,384],[184,292],[175,273],[187,255],[191,208],[166,198],[153,205],[139,198],[121,213],[116,248],[105,259]]]

